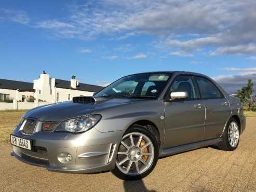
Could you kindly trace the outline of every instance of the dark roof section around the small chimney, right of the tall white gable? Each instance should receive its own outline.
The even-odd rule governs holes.
[[[68,80],[55,79],[55,84],[56,84],[56,87],[58,87],[58,88],[74,89],[70,86],[70,81],[68,81]],[[77,88],[74,90],[98,92],[103,88],[104,87],[97,86],[97,85],[89,85],[89,84],[79,83]]]

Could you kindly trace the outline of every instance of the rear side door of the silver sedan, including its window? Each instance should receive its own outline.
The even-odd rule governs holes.
[[[219,138],[228,117],[230,117],[230,104],[211,80],[199,76],[196,76],[195,79],[206,107],[204,140]]]

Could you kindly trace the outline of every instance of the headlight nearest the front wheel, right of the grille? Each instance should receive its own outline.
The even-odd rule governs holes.
[[[99,122],[101,115],[86,115],[74,119],[68,119],[59,124],[55,131],[68,131],[72,133],[85,132]]]

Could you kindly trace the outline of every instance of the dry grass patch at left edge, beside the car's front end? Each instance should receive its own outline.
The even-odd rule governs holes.
[[[0,143],[9,142],[10,134],[27,110],[0,111]]]

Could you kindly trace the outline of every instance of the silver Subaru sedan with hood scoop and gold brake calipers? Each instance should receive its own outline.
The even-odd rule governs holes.
[[[12,156],[50,171],[150,174],[159,157],[217,145],[234,150],[246,119],[238,98],[205,75],[125,76],[93,97],[31,109],[10,135]]]

